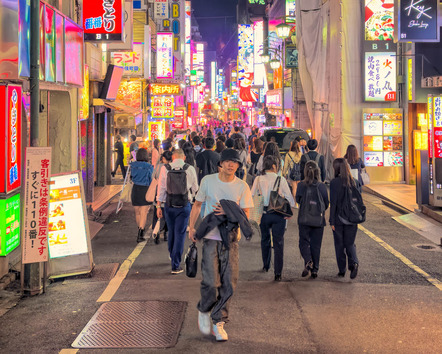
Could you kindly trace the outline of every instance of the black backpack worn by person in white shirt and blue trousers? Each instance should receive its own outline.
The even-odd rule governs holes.
[[[172,208],[182,208],[189,202],[186,170],[190,165],[185,163],[182,168],[178,169],[172,169],[170,164],[165,166],[168,171],[166,183],[167,206]]]

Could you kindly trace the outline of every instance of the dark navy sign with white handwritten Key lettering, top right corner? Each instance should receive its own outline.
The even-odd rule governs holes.
[[[439,0],[400,0],[399,42],[439,42]]]

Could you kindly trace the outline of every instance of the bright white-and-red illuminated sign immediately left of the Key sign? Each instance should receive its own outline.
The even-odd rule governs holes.
[[[392,41],[393,39],[394,0],[365,0],[365,40]]]

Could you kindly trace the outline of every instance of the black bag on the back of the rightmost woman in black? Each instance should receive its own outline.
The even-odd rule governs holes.
[[[366,207],[362,195],[355,186],[344,186],[341,210],[338,215],[344,225],[361,224],[366,218]]]

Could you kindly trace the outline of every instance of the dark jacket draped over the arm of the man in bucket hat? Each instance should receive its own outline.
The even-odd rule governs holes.
[[[229,249],[229,234],[238,229],[239,226],[246,239],[249,240],[253,235],[252,227],[250,226],[249,219],[247,219],[247,215],[240,206],[236,202],[226,199],[221,199],[220,204],[225,215],[215,215],[214,212],[207,215],[198,227],[198,230],[196,230],[195,237],[201,240],[211,230],[218,227],[222,242],[226,249]]]

